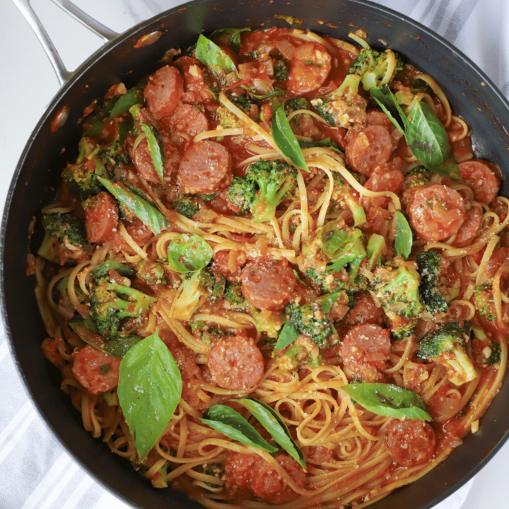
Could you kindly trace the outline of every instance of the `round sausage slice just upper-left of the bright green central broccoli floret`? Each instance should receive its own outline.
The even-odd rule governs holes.
[[[180,194],[213,194],[221,191],[233,179],[228,148],[216,141],[199,141],[180,160],[177,179]]]

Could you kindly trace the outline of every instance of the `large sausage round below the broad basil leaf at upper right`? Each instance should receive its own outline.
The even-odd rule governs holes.
[[[417,188],[406,211],[411,227],[427,242],[444,240],[454,235],[467,216],[462,195],[440,184]]]

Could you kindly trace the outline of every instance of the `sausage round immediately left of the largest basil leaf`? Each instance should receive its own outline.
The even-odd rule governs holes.
[[[72,372],[76,380],[90,392],[100,394],[118,385],[120,359],[87,345],[72,354]]]

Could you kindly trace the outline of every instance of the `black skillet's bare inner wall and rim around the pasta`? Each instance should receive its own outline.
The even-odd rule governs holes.
[[[81,416],[60,390],[59,370],[40,351],[45,338],[34,297],[34,277],[25,274],[28,229],[33,216],[54,199],[59,175],[67,161],[76,157],[82,134],[79,120],[83,109],[100,98],[115,83],[134,85],[161,65],[171,47],[192,45],[199,33],[211,33],[228,26],[283,26],[275,15],[296,16],[303,25],[348,40],[358,28],[368,33],[373,47],[394,49],[421,71],[433,76],[443,88],[452,110],[467,119],[472,128],[476,153],[500,166],[509,149],[509,103],[491,80],[449,42],[406,16],[361,0],[196,0],[145,21],[110,42],[79,67],[64,85],[35,127],[16,168],[6,200],[1,229],[1,312],[11,339],[16,363],[44,419],[76,460],[100,483],[120,498],[139,508],[199,508],[187,496],[170,489],[153,489],[129,462],[112,455],[106,445],[83,430]],[[144,35],[161,31],[150,45],[135,47]],[[156,37],[154,37],[156,38]],[[62,108],[69,108],[64,127],[52,132],[51,125]],[[62,149],[65,148],[65,151]],[[501,193],[508,196],[507,181]],[[468,481],[508,438],[509,382],[481,420],[476,435],[424,479],[400,488],[375,503],[373,509],[394,507],[426,509],[449,496]]]

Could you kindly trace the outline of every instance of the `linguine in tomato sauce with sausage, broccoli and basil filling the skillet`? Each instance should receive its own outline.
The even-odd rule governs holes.
[[[370,505],[475,433],[505,374],[498,168],[431,76],[353,40],[167,52],[90,106],[42,210],[62,389],[208,508]]]

